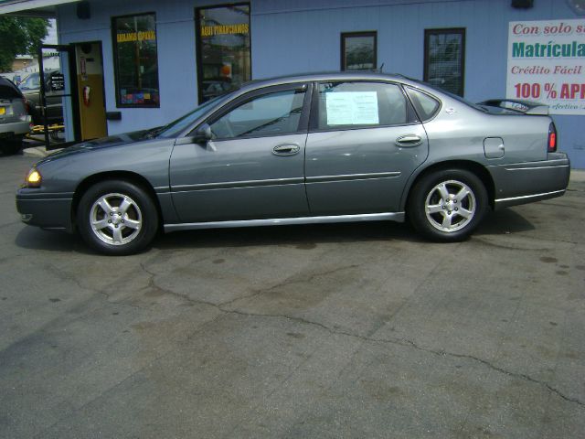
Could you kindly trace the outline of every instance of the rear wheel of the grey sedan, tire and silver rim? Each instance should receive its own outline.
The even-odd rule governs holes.
[[[431,241],[462,241],[481,222],[487,205],[487,191],[477,176],[446,169],[416,183],[407,215],[414,229]]]

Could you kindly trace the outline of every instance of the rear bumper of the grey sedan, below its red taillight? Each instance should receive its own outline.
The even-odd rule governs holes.
[[[487,169],[494,179],[495,209],[560,197],[569,185],[570,162],[565,153],[550,153],[540,162]]]

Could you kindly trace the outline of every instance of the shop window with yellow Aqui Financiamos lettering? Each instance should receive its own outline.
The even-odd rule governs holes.
[[[197,8],[199,102],[251,79],[250,4]]]

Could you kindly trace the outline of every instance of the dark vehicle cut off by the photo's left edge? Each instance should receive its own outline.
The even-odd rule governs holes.
[[[11,80],[0,77],[0,151],[16,154],[30,132],[30,116],[22,93]]]

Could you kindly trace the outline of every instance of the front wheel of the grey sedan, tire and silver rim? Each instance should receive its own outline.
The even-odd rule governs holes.
[[[111,255],[143,250],[153,241],[158,221],[153,199],[126,180],[107,180],[90,187],[77,210],[83,240],[94,250]]]

